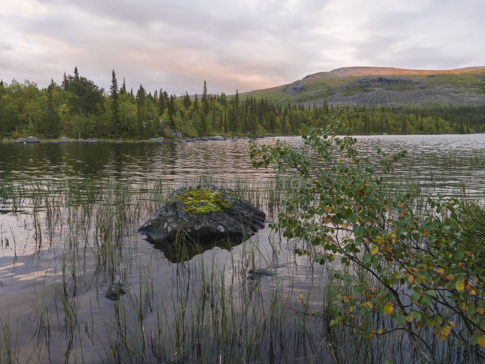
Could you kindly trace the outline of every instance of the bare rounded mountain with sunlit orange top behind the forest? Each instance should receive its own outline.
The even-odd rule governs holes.
[[[293,83],[241,93],[321,105],[485,104],[485,66],[446,70],[342,67]]]

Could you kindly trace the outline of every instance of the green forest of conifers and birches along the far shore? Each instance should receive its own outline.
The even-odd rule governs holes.
[[[39,89],[28,80],[0,81],[0,137],[143,139],[180,130],[185,136],[293,135],[305,125],[322,127],[338,113],[357,134],[435,134],[485,132],[485,105],[431,104],[425,107],[344,106],[270,102],[266,98],[187,92],[153,93],[118,84],[113,69],[109,91],[80,75],[51,80]]]

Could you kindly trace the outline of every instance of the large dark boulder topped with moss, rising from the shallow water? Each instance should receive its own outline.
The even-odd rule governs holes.
[[[138,230],[155,240],[173,240],[178,232],[205,239],[247,235],[264,226],[266,215],[233,190],[213,184],[172,192]]]

